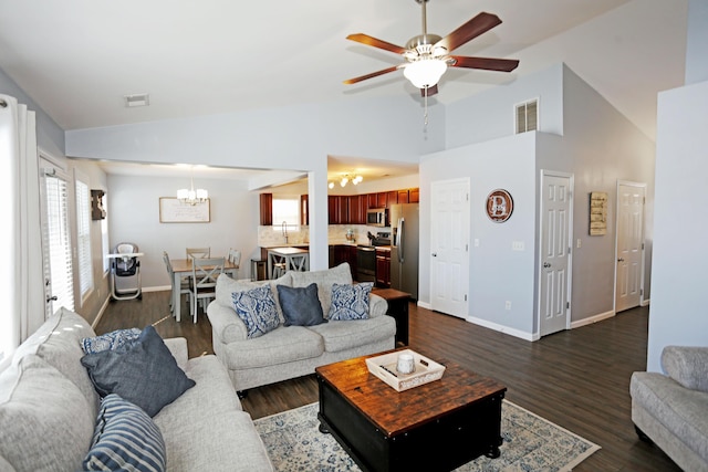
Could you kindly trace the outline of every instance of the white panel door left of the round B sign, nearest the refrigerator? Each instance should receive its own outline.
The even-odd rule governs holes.
[[[469,180],[431,185],[430,306],[467,317],[469,289]]]

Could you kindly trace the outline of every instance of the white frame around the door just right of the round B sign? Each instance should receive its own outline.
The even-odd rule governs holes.
[[[570,214],[568,216],[568,279],[566,279],[566,284],[568,284],[568,297],[566,301],[569,302],[569,307],[565,310],[565,329],[570,329],[571,328],[571,318],[573,317],[573,301],[572,301],[572,296],[573,296],[573,216],[575,213],[574,210],[574,204],[575,204],[575,175],[574,174],[570,174],[570,172],[562,172],[559,170],[550,170],[550,169],[541,169],[539,171],[539,192],[538,192],[538,199],[539,199],[539,213],[538,213],[538,224],[539,224],[539,238],[538,238],[538,242],[537,242],[537,256],[535,256],[535,264],[537,264],[537,281],[538,281],[538,286],[537,286],[537,295],[538,295],[538,301],[537,301],[537,307],[535,307],[535,319],[537,319],[537,332],[534,334],[534,339],[540,339],[541,338],[541,277],[543,276],[543,266],[541,264],[541,254],[543,251],[543,225],[541,224],[541,219],[543,218],[543,177],[544,176],[550,176],[550,177],[562,177],[562,178],[568,178],[569,179],[569,189],[570,189],[570,196],[569,196],[569,208],[570,208]]]

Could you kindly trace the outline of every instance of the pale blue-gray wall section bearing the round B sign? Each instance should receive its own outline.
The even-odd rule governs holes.
[[[475,323],[530,339],[534,313],[535,133],[509,136],[425,156],[420,162],[419,300],[430,303],[430,186],[435,181],[470,179],[469,314]],[[506,189],[513,198],[511,218],[492,222],[487,197]],[[512,251],[523,241],[525,251]],[[504,310],[504,302],[512,310]]]

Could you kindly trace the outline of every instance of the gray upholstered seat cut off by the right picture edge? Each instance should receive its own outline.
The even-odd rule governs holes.
[[[708,470],[708,347],[667,346],[659,373],[634,373],[632,421],[685,471]]]

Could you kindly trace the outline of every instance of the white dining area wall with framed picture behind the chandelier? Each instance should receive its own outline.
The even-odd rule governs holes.
[[[175,197],[185,181],[174,178],[108,176],[106,200],[111,247],[134,242],[140,258],[143,287],[170,285],[163,251],[170,259],[185,259],[188,247],[209,247],[215,256],[229,248],[242,252],[239,277],[250,276],[250,259],[259,258],[258,193],[239,180],[200,179],[209,191],[211,221],[208,223],[160,223],[159,197]]]

